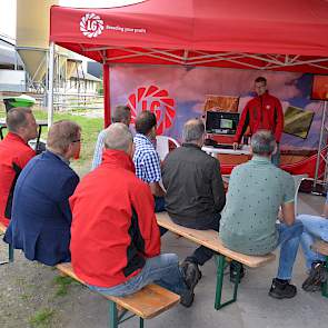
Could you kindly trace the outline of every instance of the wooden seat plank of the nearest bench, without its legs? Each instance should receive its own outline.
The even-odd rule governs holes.
[[[61,272],[86,285],[76,276],[71,264],[59,264],[56,267]],[[142,319],[153,318],[180,301],[179,295],[158,285],[148,285],[141,290],[126,297],[105,296],[102,294],[101,296],[136,314]]]

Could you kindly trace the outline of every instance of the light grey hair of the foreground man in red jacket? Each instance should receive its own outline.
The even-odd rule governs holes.
[[[105,131],[106,149],[127,151],[133,142],[132,133],[125,123],[112,123]]]

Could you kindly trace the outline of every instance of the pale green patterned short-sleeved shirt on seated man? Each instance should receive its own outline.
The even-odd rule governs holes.
[[[222,211],[220,238],[232,250],[262,255],[277,247],[276,220],[279,207],[294,201],[292,177],[269,159],[254,157],[233,169],[227,205]]]

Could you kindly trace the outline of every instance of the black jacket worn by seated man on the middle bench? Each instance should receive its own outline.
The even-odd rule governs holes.
[[[162,181],[167,210],[181,225],[202,226],[225,206],[220,163],[196,145],[183,143],[168,155]]]

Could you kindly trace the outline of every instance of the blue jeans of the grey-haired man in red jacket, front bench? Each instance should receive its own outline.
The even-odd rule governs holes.
[[[151,282],[156,282],[181,296],[188,290],[176,254],[163,254],[147,259],[142,270],[123,284],[110,288],[91,285],[88,287],[103,295],[127,296]]]

